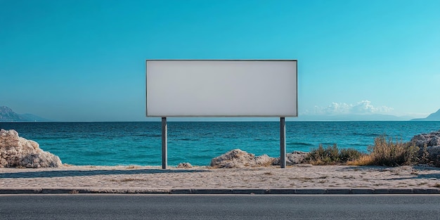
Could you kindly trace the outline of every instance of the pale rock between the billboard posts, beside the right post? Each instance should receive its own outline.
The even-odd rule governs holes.
[[[252,153],[247,153],[240,149],[228,151],[224,155],[215,157],[211,160],[211,167],[214,168],[244,168],[270,166],[274,158],[268,155],[255,157]]]

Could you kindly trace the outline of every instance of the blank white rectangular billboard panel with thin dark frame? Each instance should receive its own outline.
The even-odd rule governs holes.
[[[147,60],[147,117],[297,117],[297,60]]]

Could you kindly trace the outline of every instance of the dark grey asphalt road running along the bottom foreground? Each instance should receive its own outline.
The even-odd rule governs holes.
[[[0,195],[0,219],[439,219],[440,195]]]

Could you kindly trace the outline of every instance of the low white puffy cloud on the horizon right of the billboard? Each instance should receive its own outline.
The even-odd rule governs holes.
[[[306,110],[306,115],[368,115],[391,112],[387,106],[375,107],[370,101],[360,101],[356,104],[331,103],[326,107],[315,106],[313,111]]]

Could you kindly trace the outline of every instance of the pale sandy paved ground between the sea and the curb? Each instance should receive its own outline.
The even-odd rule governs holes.
[[[0,169],[0,188],[440,188],[440,168],[300,164],[280,169],[65,166]]]

